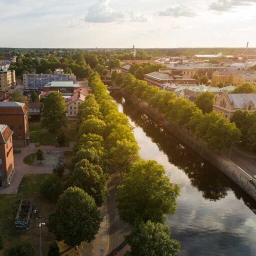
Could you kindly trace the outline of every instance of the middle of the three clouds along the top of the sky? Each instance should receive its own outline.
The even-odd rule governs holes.
[[[187,5],[179,4],[175,7],[169,7],[166,10],[159,11],[160,16],[172,16],[172,17],[194,17],[196,13]]]

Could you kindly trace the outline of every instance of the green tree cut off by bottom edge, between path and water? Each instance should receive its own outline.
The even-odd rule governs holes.
[[[132,232],[125,236],[129,250],[125,256],[174,256],[180,244],[170,238],[170,228],[162,223],[148,220],[132,226]]]

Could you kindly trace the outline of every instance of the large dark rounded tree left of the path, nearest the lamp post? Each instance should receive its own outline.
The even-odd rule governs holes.
[[[73,247],[95,239],[101,220],[92,196],[81,188],[69,187],[59,196],[55,210],[50,213],[48,227],[58,241],[63,240]]]

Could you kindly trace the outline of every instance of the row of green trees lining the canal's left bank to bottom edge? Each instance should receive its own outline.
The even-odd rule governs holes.
[[[88,134],[88,120],[92,113],[97,116],[101,128],[95,126],[92,130],[103,137],[107,166],[124,174],[116,205],[121,219],[132,226],[132,232],[125,237],[130,246],[125,255],[144,255],[145,251],[148,255],[174,255],[179,251],[179,243],[170,238],[170,228],[163,222],[164,214],[175,212],[179,188],[164,175],[162,165],[140,159],[132,127],[118,111],[96,73],[90,76],[89,84],[98,107],[92,99],[89,104],[85,101],[81,105],[81,108],[85,104],[87,107],[79,116],[79,131],[86,130]],[[89,108],[92,105],[93,108]],[[81,138],[83,136],[86,135],[82,134]],[[82,145],[81,138],[78,147]]]

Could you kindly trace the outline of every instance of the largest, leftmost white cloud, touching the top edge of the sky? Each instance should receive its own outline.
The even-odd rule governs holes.
[[[84,20],[91,23],[147,22],[152,21],[152,17],[133,11],[128,13],[116,11],[109,6],[109,0],[98,0],[97,3],[88,8],[87,13],[84,15]]]

